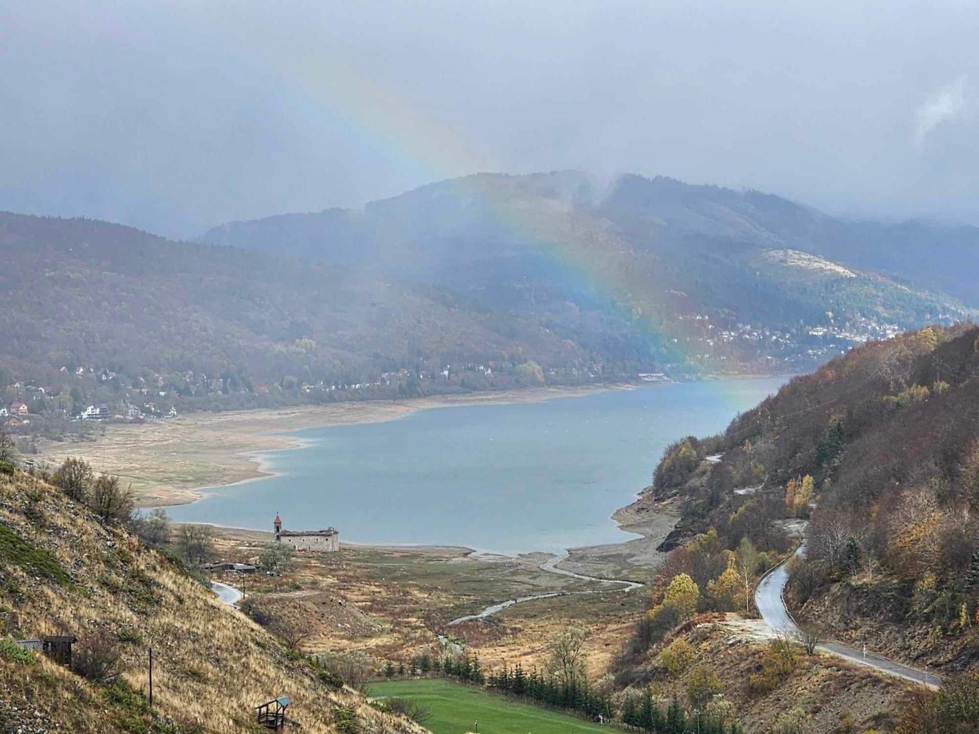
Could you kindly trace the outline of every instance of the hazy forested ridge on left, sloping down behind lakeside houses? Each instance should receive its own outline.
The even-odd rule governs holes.
[[[540,384],[537,365],[586,382],[610,355],[440,287],[107,222],[0,213],[0,256],[0,397],[32,432],[100,400],[152,415],[501,389]]]

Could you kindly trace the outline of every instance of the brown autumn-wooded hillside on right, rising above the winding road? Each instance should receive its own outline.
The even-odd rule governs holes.
[[[713,531],[784,551],[779,526],[808,519],[797,619],[911,665],[979,666],[979,328],[866,344],[795,378],[723,435],[677,441],[653,492],[682,502],[672,547]]]

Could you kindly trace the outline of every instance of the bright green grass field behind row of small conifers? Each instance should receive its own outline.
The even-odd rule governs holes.
[[[589,724],[574,716],[507,701],[478,689],[442,678],[392,680],[371,683],[368,695],[404,698],[427,707],[432,717],[425,726],[435,734],[568,734],[569,732],[609,731],[606,726]]]

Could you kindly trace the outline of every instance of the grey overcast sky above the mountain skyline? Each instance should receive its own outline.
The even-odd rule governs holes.
[[[0,0],[0,209],[170,236],[477,170],[979,223],[979,3]]]

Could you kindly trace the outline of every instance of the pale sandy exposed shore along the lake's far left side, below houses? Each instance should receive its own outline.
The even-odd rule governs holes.
[[[210,487],[270,476],[261,452],[302,447],[302,438],[288,434],[303,429],[393,421],[429,408],[539,402],[634,387],[556,387],[195,413],[145,424],[110,425],[105,436],[90,441],[46,441],[37,459],[58,465],[68,456],[81,456],[98,471],[130,483],[140,507],[187,504]]]

